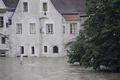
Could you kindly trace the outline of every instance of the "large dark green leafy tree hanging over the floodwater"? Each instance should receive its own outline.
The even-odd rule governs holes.
[[[82,66],[94,69],[103,65],[120,70],[120,0],[86,0],[86,6],[88,19],[71,45],[69,60],[78,58]]]

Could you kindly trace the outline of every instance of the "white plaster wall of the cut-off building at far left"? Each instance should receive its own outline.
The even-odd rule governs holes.
[[[0,9],[6,9],[4,3],[2,0],[0,0]],[[8,50],[6,52],[6,55],[9,54],[9,28],[6,27],[6,23],[8,23],[8,18],[11,17],[11,12],[6,12],[6,13],[0,13],[0,16],[3,16],[4,18],[4,27],[0,28],[0,50]],[[1,38],[4,37],[4,35],[6,35],[6,43],[2,44],[1,43]]]

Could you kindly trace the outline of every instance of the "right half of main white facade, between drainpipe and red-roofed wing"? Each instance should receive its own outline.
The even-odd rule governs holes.
[[[41,17],[44,16],[46,19],[41,19],[42,23],[42,56],[63,56],[64,53],[64,45],[63,45],[63,28],[62,28],[62,15],[55,9],[53,4],[50,2],[50,0],[41,0],[41,7],[42,3],[47,2],[48,3],[48,11],[47,16],[44,16],[42,12],[42,8],[40,9]],[[53,34],[47,34],[46,33],[46,24],[53,24]],[[44,46],[48,46],[48,53],[44,52]],[[59,53],[54,54],[53,53],[53,46],[58,46]]]

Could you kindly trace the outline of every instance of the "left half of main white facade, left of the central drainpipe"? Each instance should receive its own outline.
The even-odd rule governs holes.
[[[39,19],[34,13],[38,0],[20,0],[13,15],[11,25],[11,53],[12,56],[20,55],[20,46],[24,46],[24,56],[39,56]],[[23,12],[23,2],[28,2],[29,11]],[[36,3],[36,4],[35,4]],[[16,34],[16,23],[22,23],[22,34]],[[30,23],[36,24],[36,34],[30,34]],[[31,54],[31,47],[35,47],[35,54]]]

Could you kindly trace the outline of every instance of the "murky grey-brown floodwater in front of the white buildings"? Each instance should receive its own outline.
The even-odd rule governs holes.
[[[70,65],[66,58],[0,58],[0,80],[120,80],[120,73],[102,73]]]

